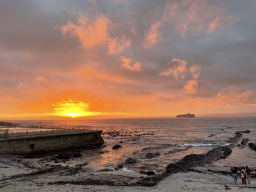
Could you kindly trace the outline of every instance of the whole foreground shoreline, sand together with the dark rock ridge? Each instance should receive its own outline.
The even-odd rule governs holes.
[[[230,142],[238,143],[241,135],[236,133]],[[73,188],[76,191],[188,191],[199,190],[199,186],[201,190],[204,187],[204,191],[212,191],[212,187],[218,191],[239,191],[241,188],[255,191],[255,172],[252,184],[235,186],[230,167],[214,164],[218,159],[226,158],[233,147],[234,144],[231,144],[213,148],[206,154],[190,154],[167,165],[161,175],[154,176],[108,169],[94,172],[86,167],[86,162],[74,167],[60,166],[52,161],[56,156],[36,158],[38,161],[35,161],[35,158],[1,154],[0,169],[9,174],[0,175],[0,191],[40,191],[42,186],[49,191],[70,191]],[[220,177],[222,180],[219,180]],[[210,180],[214,182],[209,183]],[[201,184],[198,185],[198,182]],[[209,184],[205,186],[206,183]]]

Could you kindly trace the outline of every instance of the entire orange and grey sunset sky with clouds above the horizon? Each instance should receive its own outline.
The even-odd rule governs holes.
[[[256,1],[0,1],[0,120],[256,116]]]

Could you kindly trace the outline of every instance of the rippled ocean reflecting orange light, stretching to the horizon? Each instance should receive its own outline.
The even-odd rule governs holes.
[[[17,122],[17,121],[16,121]],[[39,121],[18,121],[36,124]],[[82,150],[82,157],[63,162],[74,166],[89,162],[88,170],[114,169],[124,164],[123,171],[153,170],[160,174],[167,164],[177,162],[187,154],[206,153],[217,146],[229,145],[236,131],[250,130],[242,138],[256,142],[256,118],[139,118],[139,119],[70,119],[41,121],[41,124],[93,126],[103,130],[105,143]],[[241,141],[239,141],[240,143]],[[114,145],[121,148],[113,149]],[[127,164],[126,159],[134,159]],[[256,151],[249,146],[236,146],[226,159],[215,162],[222,166],[256,167]]]

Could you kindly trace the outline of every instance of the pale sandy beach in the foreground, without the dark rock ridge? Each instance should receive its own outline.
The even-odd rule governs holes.
[[[60,163],[61,164],[61,163]],[[93,171],[87,163],[65,167],[44,158],[21,158],[7,154],[0,160],[0,191],[255,191],[249,185],[234,185],[230,167],[210,163],[172,174],[154,186],[142,180],[153,176],[122,170]],[[255,174],[252,172],[252,174]],[[140,181],[140,182],[138,182]],[[146,183],[148,185],[148,183]]]

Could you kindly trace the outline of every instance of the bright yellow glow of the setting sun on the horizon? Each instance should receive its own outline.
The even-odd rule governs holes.
[[[56,116],[78,118],[83,116],[92,116],[94,114],[91,111],[88,111],[89,103],[84,103],[81,101],[62,101],[57,104],[54,104],[53,106],[55,106],[54,114]]]

